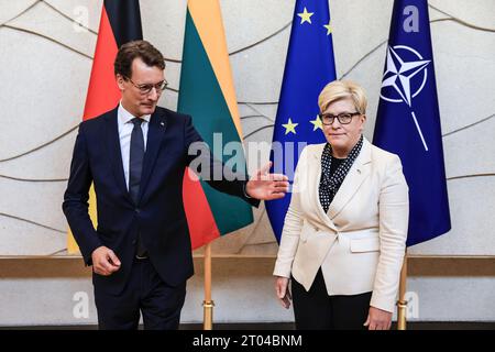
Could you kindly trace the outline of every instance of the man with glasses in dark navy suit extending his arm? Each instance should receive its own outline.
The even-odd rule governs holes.
[[[156,106],[166,87],[164,69],[163,55],[150,43],[122,45],[114,62],[121,101],[82,122],[74,147],[63,210],[94,268],[101,329],[136,329],[140,311],[145,329],[178,328],[186,280],[194,274],[183,206],[184,170],[193,160],[206,161],[198,172],[212,187],[253,206],[288,189],[287,178],[265,175],[267,168],[248,182],[232,174],[212,179],[220,162],[209,150],[188,153],[194,143],[205,145],[191,118]],[[98,229],[88,216],[91,184]]]

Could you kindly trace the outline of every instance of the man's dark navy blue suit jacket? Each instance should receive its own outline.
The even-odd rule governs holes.
[[[64,213],[87,265],[92,264],[91,253],[100,245],[113,250],[122,263],[110,276],[94,274],[94,284],[99,288],[116,294],[123,288],[140,232],[162,279],[172,286],[183,284],[194,274],[183,206],[183,177],[186,166],[195,158],[188,155],[189,145],[202,139],[189,116],[157,107],[150,120],[140,197],[134,204],[125,186],[117,110],[80,124],[64,195]],[[218,163],[205,153],[201,157],[206,156],[210,166]],[[88,216],[91,183],[97,195],[98,229]],[[258,205],[257,200],[245,197],[243,180],[209,184],[253,206]]]

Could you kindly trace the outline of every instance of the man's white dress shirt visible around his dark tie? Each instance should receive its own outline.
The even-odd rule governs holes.
[[[135,117],[125,110],[122,107],[122,102],[119,105],[119,109],[117,111],[117,120],[119,127],[119,140],[120,140],[120,152],[122,153],[122,166],[124,169],[125,176],[125,186],[129,190],[129,162],[130,162],[130,153],[131,153],[131,134],[134,129],[134,123],[132,123],[132,119]],[[150,124],[151,114],[142,116],[143,122],[141,123],[141,130],[143,131],[144,138],[144,150],[146,150],[147,142],[147,127]]]

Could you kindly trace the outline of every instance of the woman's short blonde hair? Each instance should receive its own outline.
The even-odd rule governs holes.
[[[358,112],[366,113],[366,95],[363,88],[352,80],[333,80],[324,86],[318,97],[318,106],[323,112],[332,102],[346,98],[351,98]]]

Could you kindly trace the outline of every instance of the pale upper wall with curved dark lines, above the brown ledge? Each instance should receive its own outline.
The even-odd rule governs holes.
[[[245,140],[270,142],[294,2],[220,3]],[[491,216],[495,211],[495,2],[429,3],[452,231],[410,252],[495,255]],[[369,138],[392,4],[392,0],[330,1],[338,76],[366,88]],[[172,89],[179,81],[185,6],[185,0],[141,1],[144,36],[168,58]],[[1,81],[9,82],[0,85],[0,255],[63,255],[67,224],[61,199],[85,102],[101,0],[2,0],[0,9]],[[176,102],[173,90],[161,101],[172,109]],[[276,244],[263,206],[255,218],[237,235],[216,243],[215,253],[273,255]]]

